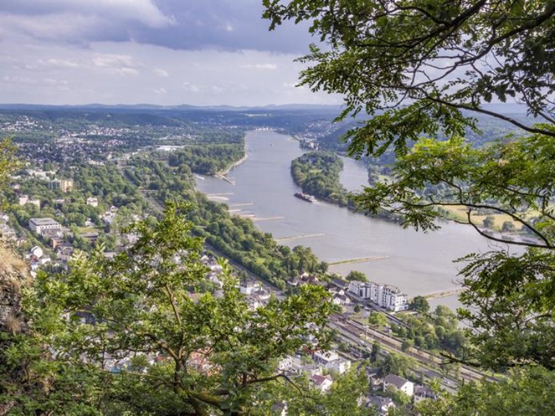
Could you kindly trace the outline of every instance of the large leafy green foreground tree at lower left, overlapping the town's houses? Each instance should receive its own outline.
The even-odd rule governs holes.
[[[291,385],[279,358],[307,336],[327,348],[332,304],[320,286],[250,311],[223,263],[223,293],[205,293],[186,212],[170,204],[154,227],[128,227],[137,243],[113,260],[81,255],[69,272],[37,277],[26,299],[35,338],[8,354],[51,388],[19,397],[21,413],[246,414],[268,383]]]

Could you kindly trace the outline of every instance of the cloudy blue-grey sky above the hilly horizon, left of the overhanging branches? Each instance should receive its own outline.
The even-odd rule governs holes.
[[[312,39],[262,0],[1,0],[0,102],[339,103],[295,87]]]

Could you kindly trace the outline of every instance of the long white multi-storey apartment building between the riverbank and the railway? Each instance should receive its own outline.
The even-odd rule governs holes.
[[[370,300],[381,308],[390,311],[406,311],[409,309],[409,297],[399,288],[389,284],[378,284],[373,281],[351,281],[349,292],[364,300]]]

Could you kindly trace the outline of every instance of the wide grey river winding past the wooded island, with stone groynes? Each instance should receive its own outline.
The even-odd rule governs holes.
[[[232,214],[255,219],[257,227],[271,232],[275,239],[318,234],[280,243],[309,246],[328,263],[386,257],[331,266],[332,272],[346,275],[349,270],[359,270],[372,281],[398,286],[409,297],[428,295],[457,287],[461,264],[453,263],[454,259],[492,249],[486,239],[464,225],[445,223],[438,231],[425,234],[325,202],[300,200],[293,196],[300,189],[289,173],[291,160],[303,153],[298,141],[275,132],[255,131],[248,133],[246,146],[248,159],[228,174],[234,184],[206,177],[196,181],[198,190],[230,205]],[[356,191],[366,183],[366,168],[348,158],[343,158],[343,163],[341,182]],[[454,308],[456,296],[431,300],[430,304]]]

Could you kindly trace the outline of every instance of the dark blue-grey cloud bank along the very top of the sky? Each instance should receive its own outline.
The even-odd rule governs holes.
[[[138,42],[171,49],[305,53],[306,27],[268,32],[260,0],[3,0],[0,33],[89,44]]]

